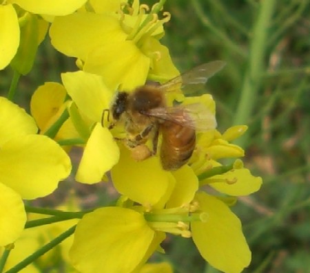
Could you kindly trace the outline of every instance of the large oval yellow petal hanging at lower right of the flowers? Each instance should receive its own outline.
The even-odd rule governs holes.
[[[216,197],[197,193],[200,210],[207,213],[205,222],[192,223],[193,240],[200,254],[218,270],[238,273],[251,261],[251,252],[242,234],[240,220]]]

